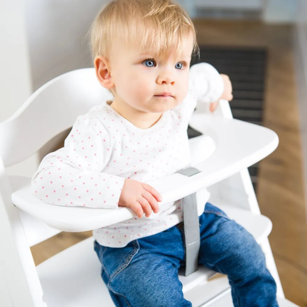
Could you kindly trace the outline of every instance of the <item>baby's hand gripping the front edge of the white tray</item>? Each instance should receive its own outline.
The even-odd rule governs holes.
[[[158,213],[158,201],[161,200],[161,195],[150,185],[125,179],[118,205],[131,208],[141,218],[143,213],[149,217],[152,210],[154,213]]]

